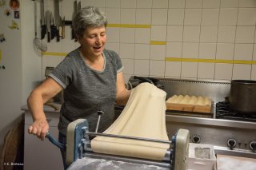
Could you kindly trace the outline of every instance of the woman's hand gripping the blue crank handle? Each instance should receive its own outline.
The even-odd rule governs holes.
[[[45,140],[46,133],[49,131],[49,125],[46,120],[38,120],[34,121],[30,128],[28,128],[28,132],[30,134],[38,136],[41,140]]]

